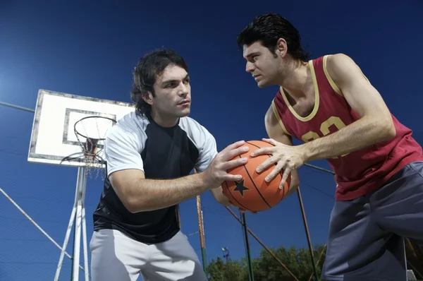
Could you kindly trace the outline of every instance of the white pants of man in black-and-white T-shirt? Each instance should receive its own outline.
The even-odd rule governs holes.
[[[178,232],[159,244],[142,244],[114,229],[90,241],[92,281],[207,281],[188,237]]]

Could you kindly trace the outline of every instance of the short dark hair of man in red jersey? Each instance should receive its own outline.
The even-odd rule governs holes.
[[[300,32],[286,18],[278,13],[265,13],[257,16],[238,35],[237,43],[240,48],[261,42],[264,47],[275,54],[279,38],[286,40],[288,54],[295,59],[306,61],[310,55],[301,46]]]

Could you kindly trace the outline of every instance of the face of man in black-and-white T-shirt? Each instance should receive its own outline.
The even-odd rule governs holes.
[[[153,110],[163,117],[180,118],[191,111],[191,86],[187,71],[180,66],[169,65],[157,76],[154,83]]]

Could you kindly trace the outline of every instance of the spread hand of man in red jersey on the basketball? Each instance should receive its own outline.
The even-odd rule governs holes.
[[[282,180],[279,185],[279,189],[283,189],[290,172],[304,165],[306,162],[306,155],[298,146],[285,145],[272,138],[263,138],[263,141],[274,146],[254,150],[250,154],[251,157],[256,157],[258,155],[272,156],[264,160],[264,162],[257,167],[256,171],[258,173],[262,172],[264,169],[276,164],[276,167],[274,167],[273,171],[269,173],[265,180],[267,182],[273,180],[283,169]]]

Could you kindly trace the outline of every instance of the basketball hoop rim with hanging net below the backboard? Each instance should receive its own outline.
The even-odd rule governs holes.
[[[97,171],[94,179],[97,179],[100,173],[102,173],[102,179],[105,177],[103,165],[106,161],[100,153],[104,148],[103,141],[106,139],[107,130],[114,124],[116,120],[109,117],[87,116],[75,122],[73,126],[83,153],[81,161],[85,162],[87,167],[86,175],[90,175],[92,179],[94,170]]]

